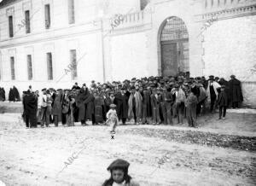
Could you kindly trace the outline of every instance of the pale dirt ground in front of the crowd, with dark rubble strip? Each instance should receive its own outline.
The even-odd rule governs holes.
[[[122,158],[140,185],[255,185],[256,114],[233,112],[216,121],[217,114],[201,117],[197,129],[120,125],[111,139],[106,126],[26,129],[19,113],[2,113],[0,180],[96,186]]]

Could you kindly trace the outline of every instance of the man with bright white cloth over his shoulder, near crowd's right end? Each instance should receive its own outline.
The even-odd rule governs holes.
[[[215,111],[215,102],[218,97],[218,88],[220,88],[220,85],[216,81],[214,81],[214,76],[209,76],[207,86],[207,98],[208,102],[210,102],[210,112],[212,113],[213,111]]]

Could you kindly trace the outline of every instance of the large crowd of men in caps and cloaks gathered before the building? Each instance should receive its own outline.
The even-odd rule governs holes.
[[[110,108],[123,125],[128,121],[136,125],[173,125],[187,119],[189,126],[197,127],[201,114],[208,110],[214,113],[218,108],[218,119],[224,119],[226,108],[238,108],[243,100],[241,83],[235,75],[226,81],[214,76],[189,78],[188,74],[106,84],[91,81],[89,86],[81,87],[75,83],[71,89],[44,88],[41,93],[30,86],[22,97],[27,127],[73,126],[77,122],[87,125],[88,120],[92,125],[105,125]]]

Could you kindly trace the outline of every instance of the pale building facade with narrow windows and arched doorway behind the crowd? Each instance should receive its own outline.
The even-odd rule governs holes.
[[[255,15],[254,0],[3,0],[0,86],[235,74],[255,107]]]

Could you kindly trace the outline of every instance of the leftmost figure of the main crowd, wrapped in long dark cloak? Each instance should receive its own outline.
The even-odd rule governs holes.
[[[38,100],[30,91],[24,91],[23,107],[26,127],[37,127]]]

